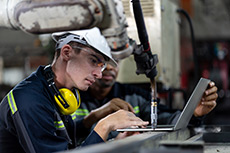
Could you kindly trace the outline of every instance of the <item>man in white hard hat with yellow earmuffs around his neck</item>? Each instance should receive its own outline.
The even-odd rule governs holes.
[[[116,66],[98,28],[54,33],[52,38],[57,42],[52,64],[40,66],[1,102],[1,153],[75,148],[81,133],[73,113],[80,99],[77,89],[87,90],[100,79],[106,63]],[[128,111],[118,111],[99,121],[83,145],[104,142],[117,128],[147,124]]]

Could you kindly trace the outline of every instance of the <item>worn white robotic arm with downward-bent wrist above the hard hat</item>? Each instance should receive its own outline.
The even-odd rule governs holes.
[[[133,52],[121,0],[1,0],[0,27],[31,34],[97,26],[115,58]]]

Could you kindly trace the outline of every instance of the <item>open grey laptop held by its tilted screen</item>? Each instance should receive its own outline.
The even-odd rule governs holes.
[[[152,128],[152,126],[147,126],[145,128],[124,128],[124,129],[117,129],[118,132],[125,132],[125,131],[137,131],[137,132],[147,132],[147,131],[175,131],[182,128],[186,128],[196,106],[200,102],[203,93],[205,92],[206,88],[208,87],[210,80],[205,78],[200,78],[199,82],[197,83],[195,89],[193,90],[188,102],[186,103],[182,113],[178,117],[176,124],[174,125],[157,125],[156,128]]]

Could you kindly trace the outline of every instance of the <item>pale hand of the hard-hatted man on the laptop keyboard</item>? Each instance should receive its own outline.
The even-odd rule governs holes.
[[[148,124],[149,122],[141,120],[129,111],[119,110],[100,120],[94,130],[106,141],[111,131],[131,126],[146,126]]]

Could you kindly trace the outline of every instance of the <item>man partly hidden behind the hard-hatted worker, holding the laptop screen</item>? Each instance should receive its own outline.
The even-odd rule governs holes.
[[[83,140],[94,123],[120,109],[133,112],[142,120],[150,121],[150,92],[116,82],[117,75],[118,67],[108,64],[102,73],[102,78],[97,79],[88,91],[81,92],[82,103],[76,114],[77,118],[83,121],[83,126],[88,129],[85,133],[81,133]],[[217,97],[217,87],[214,82],[210,82],[209,89],[205,91],[201,102],[196,107],[191,124],[199,124],[202,119],[199,117],[214,109]],[[158,106],[158,124],[173,124],[178,115],[180,115],[179,111],[169,113],[163,105]],[[117,134],[118,132],[112,132],[110,138],[116,137]],[[124,134],[127,133],[123,133],[123,136]]]

